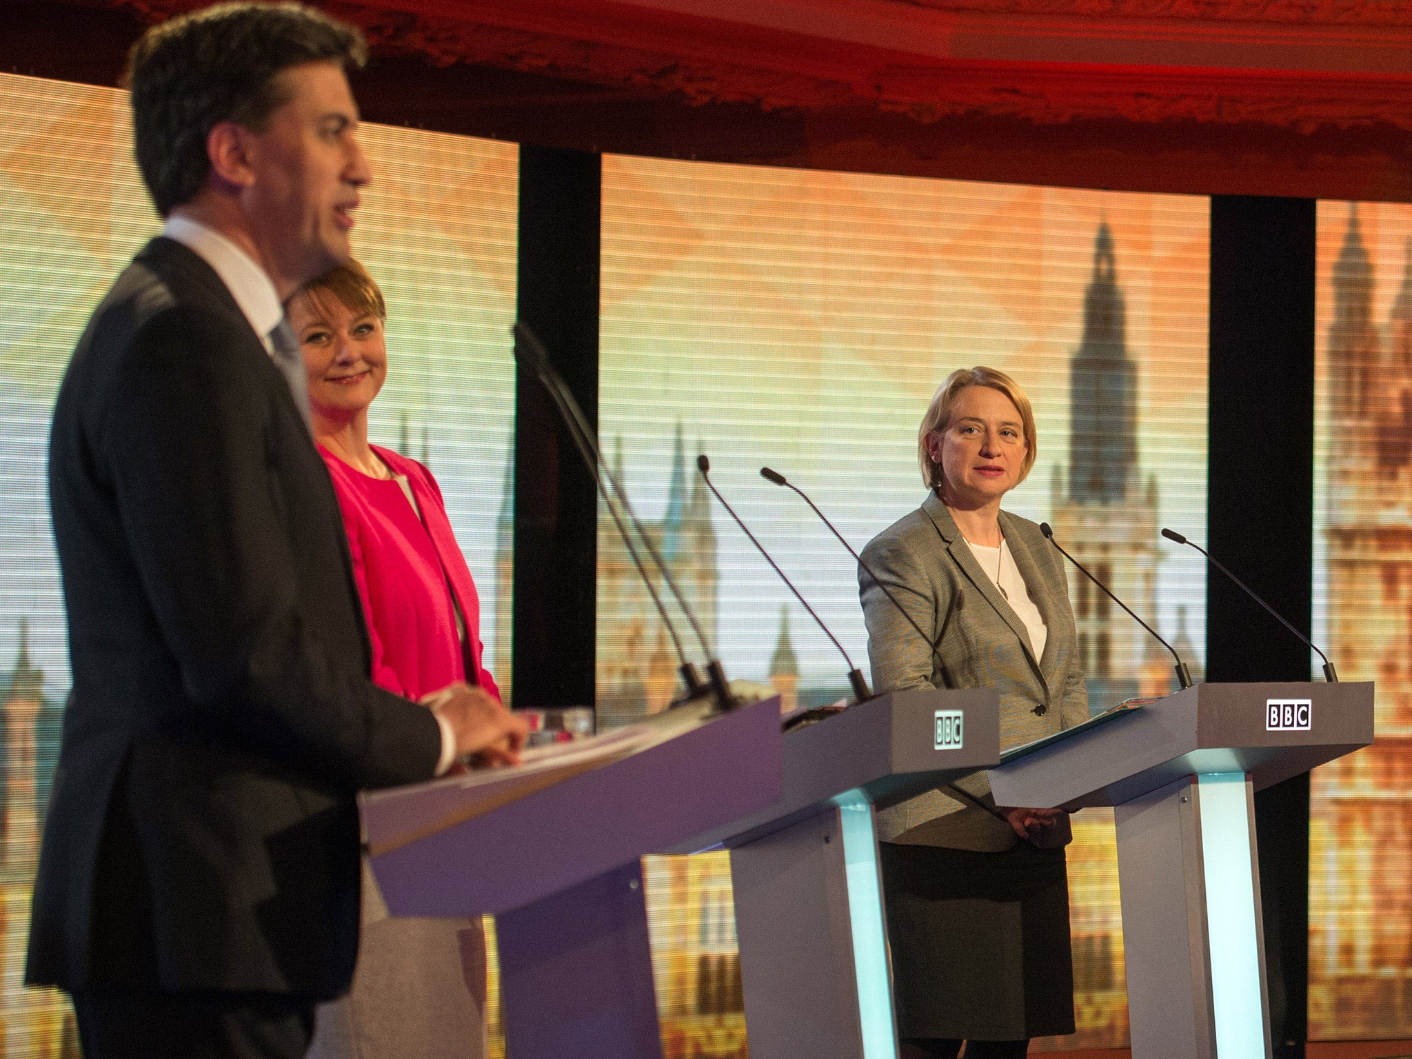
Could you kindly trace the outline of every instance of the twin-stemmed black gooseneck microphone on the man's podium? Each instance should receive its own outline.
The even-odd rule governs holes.
[[[559,418],[563,421],[565,428],[569,431],[569,436],[573,439],[575,448],[579,450],[583,462],[589,466],[589,472],[593,474],[593,481],[599,489],[599,494],[603,497],[603,503],[607,505],[609,514],[613,517],[613,525],[617,528],[618,537],[623,538],[623,544],[627,545],[627,552],[633,559],[633,566],[637,569],[638,576],[647,586],[648,596],[652,597],[652,604],[657,607],[657,613],[661,616],[662,624],[666,627],[666,633],[672,640],[672,645],[676,648],[676,657],[681,661],[678,672],[681,672],[682,681],[686,683],[686,700],[689,702],[700,698],[706,692],[712,692],[716,698],[716,705],[723,712],[733,710],[738,703],[730,693],[730,688],[726,683],[726,672],[722,669],[720,662],[712,655],[710,647],[706,644],[706,635],[702,633],[702,627],[696,621],[696,616],[692,613],[690,607],[686,606],[686,600],[678,590],[671,570],[666,569],[666,563],[662,562],[662,556],[652,544],[652,538],[642,530],[641,520],[638,520],[637,514],[633,511],[633,505],[628,503],[621,486],[613,477],[613,472],[609,470],[607,462],[599,452],[593,428],[589,426],[589,421],[583,415],[583,409],[579,407],[578,400],[575,400],[573,393],[554,369],[554,364],[549,363],[548,350],[545,350],[544,343],[539,342],[539,337],[530,329],[530,326],[515,321],[510,330],[515,339],[513,346],[515,360],[522,367],[528,367],[535,377],[538,377],[545,391],[548,391],[549,398],[554,401],[555,408],[559,412]],[[614,500],[621,505],[621,514],[618,508],[614,507]],[[696,640],[702,645],[702,652],[706,655],[706,675],[709,682],[703,682],[700,675],[696,672],[696,666],[686,659],[681,637],[676,634],[672,620],[666,616],[666,607],[662,604],[662,600],[657,593],[657,587],[652,585],[652,579],[647,576],[647,569],[637,554],[637,548],[633,545],[633,537],[623,524],[624,514],[637,531],[638,539],[647,548],[648,555],[652,558],[652,563],[661,572],[662,582],[671,590],[672,596],[676,599],[676,604],[682,609],[682,613],[690,623],[692,631],[696,634]]]

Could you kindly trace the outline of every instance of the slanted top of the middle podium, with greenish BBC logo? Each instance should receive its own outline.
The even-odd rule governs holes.
[[[770,805],[664,853],[740,846],[860,791],[887,806],[1000,761],[993,688],[878,695],[784,737],[784,777]]]

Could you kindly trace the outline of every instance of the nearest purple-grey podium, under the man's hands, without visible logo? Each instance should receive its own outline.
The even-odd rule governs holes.
[[[497,916],[515,1059],[659,1059],[640,858],[779,796],[778,698],[722,714],[682,706],[648,727],[661,741],[578,771],[510,768],[361,799],[393,915]],[[473,782],[489,794],[472,798]]]

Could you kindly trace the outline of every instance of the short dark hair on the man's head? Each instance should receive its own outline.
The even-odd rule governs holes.
[[[352,25],[294,3],[227,3],[154,25],[127,56],[137,168],[164,217],[210,172],[206,137],[222,121],[263,131],[287,100],[280,73],[306,62],[359,69]]]

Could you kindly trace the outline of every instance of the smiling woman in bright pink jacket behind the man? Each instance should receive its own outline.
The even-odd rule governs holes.
[[[367,441],[387,378],[387,306],[349,261],[291,298],[313,436],[347,531],[373,647],[373,681],[409,699],[453,681],[500,699],[481,665],[480,602],[441,490],[417,460]],[[391,919],[364,861],[353,988],[318,1012],[311,1056],[484,1053],[486,939],[479,919]]]

